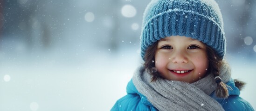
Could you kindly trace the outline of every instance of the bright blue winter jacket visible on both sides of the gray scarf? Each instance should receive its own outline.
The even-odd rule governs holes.
[[[226,83],[233,90],[228,90],[228,99],[217,98],[214,94],[210,94],[212,98],[218,101],[225,111],[254,111],[252,106],[244,99],[239,97],[240,91],[235,86],[233,79]],[[127,95],[119,99],[112,107],[111,111],[158,111],[133,85],[132,80],[127,85]]]

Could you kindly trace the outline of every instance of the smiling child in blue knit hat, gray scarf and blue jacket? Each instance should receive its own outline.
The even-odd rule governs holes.
[[[144,66],[111,111],[254,111],[239,97],[244,83],[230,77],[225,51],[214,0],[152,0],[142,25]]]

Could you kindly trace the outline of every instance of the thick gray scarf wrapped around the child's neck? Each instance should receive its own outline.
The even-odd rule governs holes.
[[[143,67],[138,68],[132,81],[159,111],[224,111],[209,95],[216,89],[213,74],[208,74],[194,83],[158,78],[150,82],[152,75]],[[224,83],[230,80],[230,67],[223,64],[220,77]]]

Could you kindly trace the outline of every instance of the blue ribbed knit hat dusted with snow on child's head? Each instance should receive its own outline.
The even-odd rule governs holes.
[[[207,44],[223,59],[226,39],[220,8],[214,0],[152,0],[143,17],[142,59],[153,43],[177,35]]]

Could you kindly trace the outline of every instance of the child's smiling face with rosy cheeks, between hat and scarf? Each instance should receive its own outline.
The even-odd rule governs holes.
[[[190,37],[166,37],[158,43],[155,66],[167,80],[195,82],[207,72],[206,46]]]

